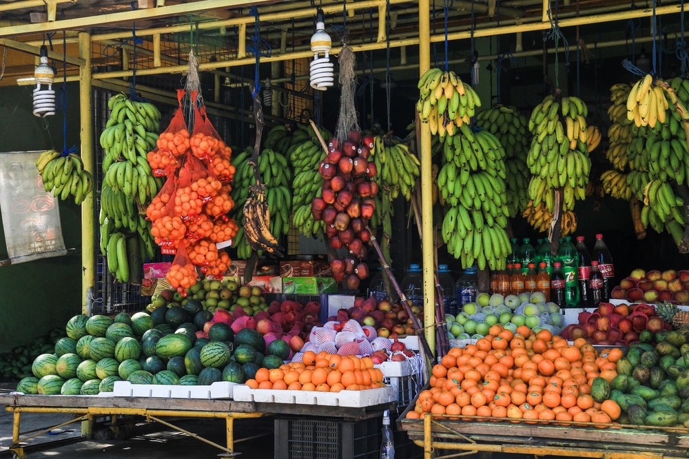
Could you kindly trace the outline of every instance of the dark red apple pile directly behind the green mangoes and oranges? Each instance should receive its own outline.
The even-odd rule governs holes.
[[[644,330],[657,333],[671,329],[670,324],[657,315],[655,306],[647,303],[599,303],[594,312],[580,312],[578,319],[578,324],[562,330],[563,338],[586,338],[595,345],[628,346],[636,343]]]

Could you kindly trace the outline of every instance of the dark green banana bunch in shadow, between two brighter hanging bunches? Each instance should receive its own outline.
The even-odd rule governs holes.
[[[528,120],[516,108],[495,105],[476,115],[476,123],[494,134],[505,149],[507,207],[509,216],[522,214],[528,204],[526,154],[531,139]]]

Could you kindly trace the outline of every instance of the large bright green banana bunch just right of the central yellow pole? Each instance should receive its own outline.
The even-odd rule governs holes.
[[[443,159],[438,190],[448,204],[441,227],[448,252],[464,268],[504,269],[511,252],[504,148],[487,130],[462,124],[445,137]]]

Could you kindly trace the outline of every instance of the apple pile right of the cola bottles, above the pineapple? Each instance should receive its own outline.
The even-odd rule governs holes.
[[[660,272],[635,269],[610,292],[610,298],[646,303],[689,305],[689,269]]]

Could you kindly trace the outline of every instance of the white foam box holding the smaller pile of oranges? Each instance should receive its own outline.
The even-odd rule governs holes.
[[[237,402],[361,408],[393,402],[396,400],[396,394],[392,387],[379,387],[378,389],[362,391],[318,392],[251,389],[247,385],[238,385],[234,388],[234,400]]]

